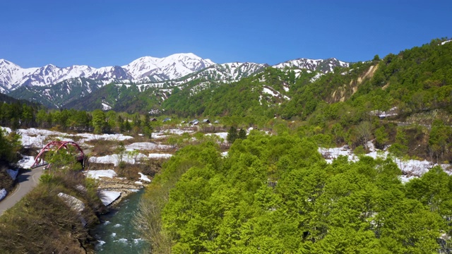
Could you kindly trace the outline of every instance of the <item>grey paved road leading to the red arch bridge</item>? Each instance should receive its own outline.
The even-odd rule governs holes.
[[[18,185],[16,186],[16,191],[9,193],[4,200],[0,201],[0,216],[37,186],[37,183],[40,182],[42,169],[44,167],[37,167],[17,177]]]

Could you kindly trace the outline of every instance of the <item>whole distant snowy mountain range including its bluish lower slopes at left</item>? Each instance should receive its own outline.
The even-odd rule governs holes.
[[[336,66],[349,63],[338,59],[295,59],[278,63],[273,68],[332,72]],[[145,87],[180,87],[192,80],[228,83],[263,71],[265,63],[214,63],[192,53],[172,54],[164,58],[143,56],[126,66],[69,66],[52,64],[40,68],[21,68],[0,59],[0,92],[18,99],[60,108],[90,95],[109,83],[137,84]]]

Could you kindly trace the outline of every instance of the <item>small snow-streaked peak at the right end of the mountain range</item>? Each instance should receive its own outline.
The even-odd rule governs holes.
[[[338,59],[295,59],[285,61],[284,63],[278,63],[273,68],[300,68],[309,71],[320,71],[321,73],[332,72],[335,66],[348,67],[349,63],[339,61]]]

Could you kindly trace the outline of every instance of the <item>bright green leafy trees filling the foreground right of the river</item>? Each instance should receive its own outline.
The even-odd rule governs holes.
[[[212,143],[179,150],[137,226],[155,253],[450,251],[452,177],[400,174],[391,159],[326,164],[312,139],[251,132],[224,158]]]

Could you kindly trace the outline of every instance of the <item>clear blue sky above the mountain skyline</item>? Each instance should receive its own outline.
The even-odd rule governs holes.
[[[0,59],[125,65],[192,52],[215,63],[364,61],[452,37],[452,1],[0,1]]]

